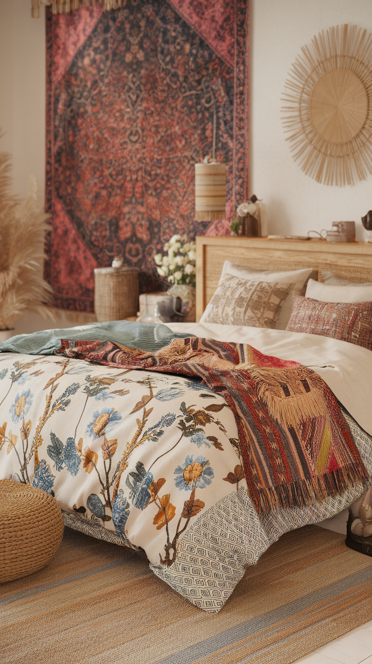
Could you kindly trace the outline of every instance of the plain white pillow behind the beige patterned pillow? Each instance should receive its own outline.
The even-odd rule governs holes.
[[[234,265],[229,260],[225,260],[218,285],[221,284],[225,274],[232,274],[234,277],[247,279],[249,281],[275,282],[277,284],[285,284],[286,286],[293,284],[293,290],[284,302],[275,325],[275,329],[285,330],[290,319],[290,314],[292,313],[293,297],[294,295],[304,295],[305,286],[312,271],[312,268],[306,268],[305,270],[286,270],[284,272],[273,272],[272,270],[249,270],[249,268],[242,268],[239,265]],[[200,319],[201,323],[202,321],[203,317]]]

